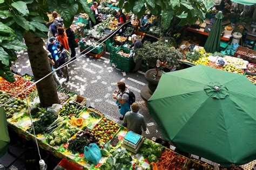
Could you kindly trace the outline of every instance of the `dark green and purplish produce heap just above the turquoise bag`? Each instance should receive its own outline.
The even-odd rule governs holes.
[[[99,145],[99,138],[92,131],[86,129],[85,131],[78,132],[76,138],[69,140],[68,143],[68,150],[73,153],[84,153],[84,146],[88,146],[91,143]]]

